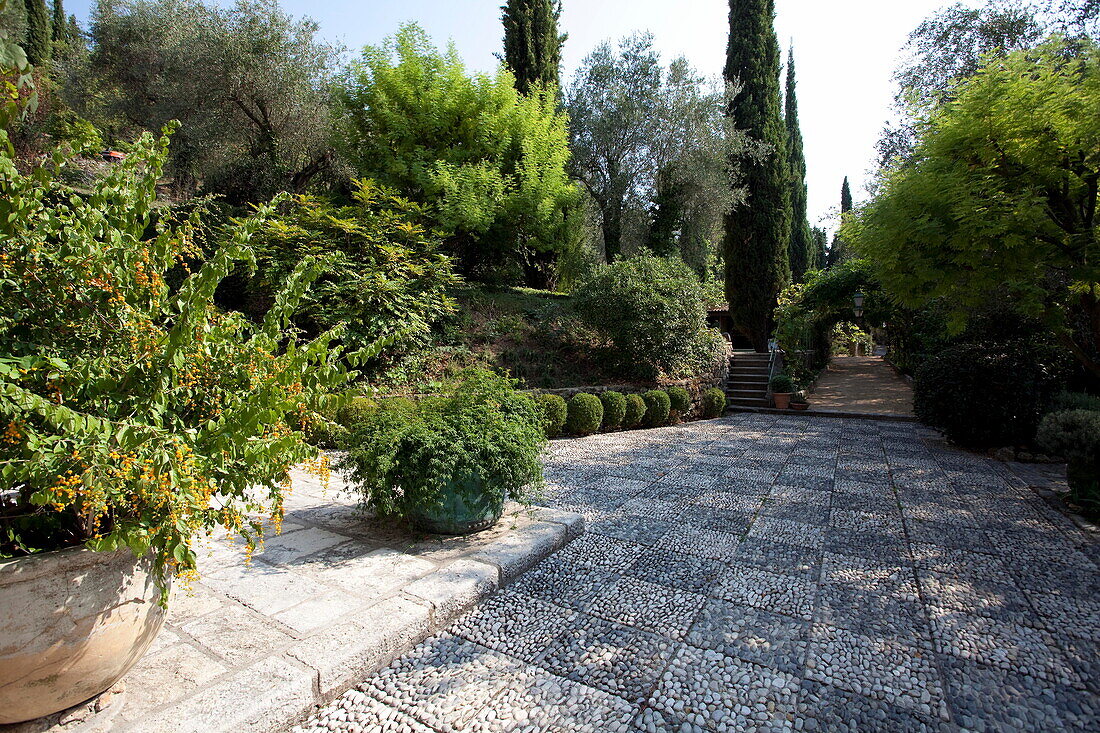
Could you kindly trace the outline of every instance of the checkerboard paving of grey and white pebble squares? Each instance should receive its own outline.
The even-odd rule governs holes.
[[[587,532],[299,733],[1100,730],[1100,549],[910,423],[554,441]]]

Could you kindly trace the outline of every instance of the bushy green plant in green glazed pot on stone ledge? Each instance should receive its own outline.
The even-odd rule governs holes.
[[[493,526],[505,499],[542,483],[543,416],[514,383],[471,370],[447,394],[381,401],[348,438],[340,468],[376,516],[464,535]]]

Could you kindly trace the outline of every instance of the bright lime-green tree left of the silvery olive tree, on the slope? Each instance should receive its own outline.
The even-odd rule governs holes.
[[[558,258],[581,244],[583,212],[552,90],[522,96],[503,68],[470,76],[410,24],[365,48],[338,97],[352,167],[421,204],[463,274],[521,269],[529,285],[553,283]]]

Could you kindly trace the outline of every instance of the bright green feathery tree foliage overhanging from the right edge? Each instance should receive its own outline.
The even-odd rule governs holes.
[[[903,305],[945,304],[954,331],[1010,298],[1100,373],[1100,48],[1052,41],[991,59],[954,91],[845,240]],[[1077,314],[1089,325],[1075,333]]]

